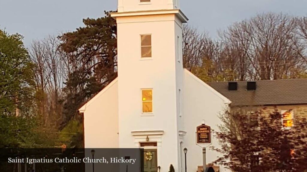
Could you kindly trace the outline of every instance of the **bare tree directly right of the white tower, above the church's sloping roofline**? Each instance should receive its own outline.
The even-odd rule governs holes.
[[[221,45],[206,32],[196,28],[183,29],[183,65],[204,81],[223,80],[220,76],[219,57]]]

